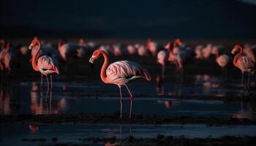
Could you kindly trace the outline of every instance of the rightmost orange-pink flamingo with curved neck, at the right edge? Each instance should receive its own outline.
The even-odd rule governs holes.
[[[242,72],[242,79],[241,84],[244,86],[245,90],[246,87],[244,85],[244,72],[248,73],[248,85],[249,85],[249,76],[253,72],[255,72],[255,65],[253,64],[253,61],[251,58],[242,55],[243,54],[243,48],[240,45],[235,45],[233,47],[233,50],[231,51],[232,54],[235,54],[239,50],[239,53],[235,55],[235,58],[233,59],[233,64]],[[246,90],[247,91],[247,90]]]

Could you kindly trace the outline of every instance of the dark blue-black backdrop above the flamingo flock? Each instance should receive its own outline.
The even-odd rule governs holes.
[[[256,6],[236,0],[1,0],[1,36],[256,38]]]

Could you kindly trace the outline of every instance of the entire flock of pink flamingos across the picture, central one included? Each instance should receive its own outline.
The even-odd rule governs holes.
[[[57,46],[57,47],[56,47]],[[79,39],[78,42],[67,42],[65,39],[61,39],[58,45],[52,43],[46,43],[40,40],[38,37],[34,37],[29,45],[20,45],[12,47],[12,43],[4,39],[0,39],[0,70],[4,72],[7,70],[7,74],[10,74],[17,64],[18,56],[31,54],[30,63],[31,69],[41,74],[42,79],[45,76],[47,80],[47,91],[53,90],[53,74],[60,74],[59,64],[66,64],[70,59],[77,58],[91,58],[89,63],[93,66],[101,56],[104,59],[102,68],[100,71],[100,78],[102,82],[106,84],[114,84],[119,88],[120,94],[120,118],[122,117],[123,109],[123,96],[121,87],[125,86],[129,93],[130,106],[129,106],[129,118],[132,116],[132,102],[133,94],[128,88],[129,82],[143,78],[147,81],[151,80],[151,74],[146,68],[143,68],[134,61],[116,61],[109,64],[109,60],[116,60],[119,57],[129,57],[134,59],[133,56],[139,58],[157,60],[156,64],[161,66],[161,76],[157,76],[157,82],[161,82],[157,89],[163,91],[162,82],[165,80],[165,75],[170,74],[166,72],[166,66],[168,64],[176,65],[176,76],[184,76],[184,72],[187,71],[186,64],[190,64],[193,60],[203,63],[206,60],[210,60],[211,56],[215,56],[214,64],[217,64],[222,68],[222,73],[227,66],[236,66],[241,70],[241,84],[245,91],[249,93],[250,76],[255,73],[255,45],[244,45],[244,48],[240,45],[235,45],[230,54],[224,54],[223,47],[212,45],[197,45],[195,47],[189,47],[184,43],[181,43],[181,39],[174,39],[172,42],[166,42],[165,45],[161,45],[158,42],[154,42],[153,39],[148,39],[145,44],[107,44],[100,45],[95,42],[87,42],[85,39]],[[16,49],[15,49],[16,48]],[[231,54],[234,58],[231,57]],[[154,65],[154,64],[151,64]],[[74,64],[75,66],[75,64]],[[244,74],[248,75],[247,83],[244,83]],[[50,77],[50,79],[49,79]],[[182,82],[182,81],[181,81]],[[48,101],[48,96],[46,97]]]

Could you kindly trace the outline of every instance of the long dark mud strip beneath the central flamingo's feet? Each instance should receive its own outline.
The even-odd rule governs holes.
[[[62,115],[1,115],[0,123],[89,123],[89,124],[206,124],[214,125],[255,125],[255,120],[216,117],[169,117],[161,115],[128,115],[119,118],[119,114],[62,114]]]

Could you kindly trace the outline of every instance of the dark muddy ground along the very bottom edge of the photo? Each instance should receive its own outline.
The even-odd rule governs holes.
[[[41,145],[255,145],[256,137],[207,137],[207,138],[187,138],[187,137],[173,137],[157,135],[154,138],[135,138],[132,136],[118,139],[116,137],[108,138],[79,138],[79,142],[58,142],[57,137],[52,139],[22,139],[23,142],[42,142]]]

